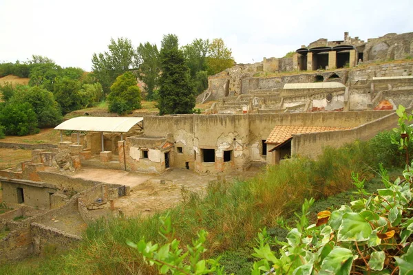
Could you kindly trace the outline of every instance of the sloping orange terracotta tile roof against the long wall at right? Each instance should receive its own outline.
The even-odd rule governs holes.
[[[328,132],[328,131],[339,131],[348,130],[351,127],[325,127],[325,126],[281,126],[277,125],[274,127],[268,136],[266,143],[269,144],[282,144],[293,135],[297,133],[315,133],[315,132]]]

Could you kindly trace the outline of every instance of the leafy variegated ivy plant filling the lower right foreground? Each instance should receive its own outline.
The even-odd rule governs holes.
[[[393,142],[406,151],[403,179],[390,182],[381,169],[385,188],[377,193],[364,190],[364,180],[353,174],[354,185],[361,199],[343,205],[335,211],[321,211],[317,223],[308,226],[306,201],[297,228],[287,234],[287,242],[279,250],[271,251],[271,242],[263,230],[258,234],[259,247],[255,254],[260,261],[254,264],[253,274],[413,274],[413,201],[412,167],[408,164],[408,144],[412,128],[405,122],[412,120],[404,107],[399,115],[400,139]]]

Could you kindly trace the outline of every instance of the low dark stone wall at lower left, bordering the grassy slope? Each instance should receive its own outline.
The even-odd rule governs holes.
[[[43,255],[47,249],[67,250],[82,240],[81,236],[50,228],[40,223],[31,223],[30,230],[33,242],[32,252],[36,255]]]

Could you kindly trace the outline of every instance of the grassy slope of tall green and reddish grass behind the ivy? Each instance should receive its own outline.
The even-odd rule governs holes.
[[[222,263],[235,274],[248,274],[251,247],[260,228],[273,234],[277,219],[290,217],[304,198],[324,198],[351,188],[351,171],[371,178],[364,162],[370,159],[363,144],[329,149],[319,160],[294,159],[270,166],[248,181],[217,182],[204,197],[183,192],[184,201],[169,210],[176,236],[189,243],[201,228],[209,232],[205,256],[223,255]],[[348,195],[343,195],[348,199]],[[114,219],[87,229],[78,248],[43,259],[0,267],[1,274],[156,274],[125,241],[161,242],[158,214],[149,219]],[[28,273],[27,273],[28,272]]]

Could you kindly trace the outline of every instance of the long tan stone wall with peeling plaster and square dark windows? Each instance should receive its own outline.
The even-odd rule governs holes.
[[[169,140],[175,144],[174,165],[182,167],[188,162],[189,168],[194,167],[198,173],[221,173],[245,170],[251,161],[265,161],[266,157],[260,153],[262,140],[266,140],[275,125],[355,127],[389,113],[392,111],[148,116],[145,131],[149,136],[171,136]],[[127,165],[129,170],[138,169],[134,166],[136,156],[135,162],[131,162],[131,155],[140,152],[131,151],[132,137],[127,140],[130,140],[125,146]],[[182,147],[182,153],[178,153],[178,147]],[[203,149],[215,150],[214,162],[204,162]],[[231,151],[226,153],[231,154],[228,162],[224,162],[225,151]]]

